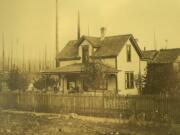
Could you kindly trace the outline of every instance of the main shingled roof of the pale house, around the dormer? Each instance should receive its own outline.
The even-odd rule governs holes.
[[[72,40],[68,42],[68,44],[58,54],[57,59],[78,59],[78,47],[84,40],[87,40],[93,47],[97,48],[96,52],[94,53],[95,57],[117,56],[128,40],[132,42],[139,56],[142,56],[142,52],[133,35],[128,34],[108,36],[105,37],[104,40],[101,40],[100,37],[82,36],[78,41]]]

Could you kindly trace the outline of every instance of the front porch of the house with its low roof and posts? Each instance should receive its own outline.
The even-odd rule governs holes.
[[[53,70],[46,70],[41,73],[47,75],[57,75],[59,77],[58,90],[63,94],[68,93],[104,93],[117,91],[117,70],[115,68],[103,65],[105,80],[98,89],[92,89],[87,86],[84,75],[84,66],[81,63],[75,63],[64,67],[58,67]]]

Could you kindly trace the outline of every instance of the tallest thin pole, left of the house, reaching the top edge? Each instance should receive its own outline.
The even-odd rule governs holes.
[[[59,66],[59,62],[57,59],[58,52],[59,52],[59,41],[58,41],[58,0],[56,0],[56,67]]]

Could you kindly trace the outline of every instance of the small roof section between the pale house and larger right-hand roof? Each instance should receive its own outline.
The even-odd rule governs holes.
[[[156,54],[158,53],[157,50],[147,50],[147,51],[142,51],[143,57],[142,59],[145,60],[153,60]]]

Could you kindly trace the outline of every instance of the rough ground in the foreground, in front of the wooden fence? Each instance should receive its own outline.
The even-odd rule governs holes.
[[[78,116],[0,111],[0,135],[179,135],[178,126],[138,126],[127,121]]]

